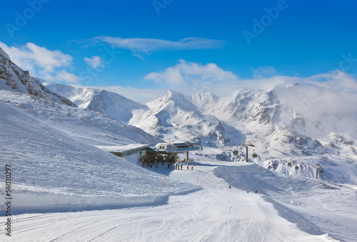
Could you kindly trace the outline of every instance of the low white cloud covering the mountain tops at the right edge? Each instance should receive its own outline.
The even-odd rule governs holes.
[[[298,78],[297,83],[293,88],[278,85],[276,93],[283,103],[305,117],[357,112],[357,82],[347,73],[336,70]]]

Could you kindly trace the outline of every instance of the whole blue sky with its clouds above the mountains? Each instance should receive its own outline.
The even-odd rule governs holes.
[[[306,78],[341,68],[357,75],[356,6],[305,0],[5,1],[0,47],[31,75],[91,86],[169,89],[201,79]]]

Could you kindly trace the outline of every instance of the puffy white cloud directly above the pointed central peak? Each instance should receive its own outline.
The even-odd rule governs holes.
[[[149,73],[144,80],[169,85],[211,85],[214,82],[238,80],[231,71],[223,70],[214,63],[201,65],[179,60],[174,67],[166,68],[161,73]]]

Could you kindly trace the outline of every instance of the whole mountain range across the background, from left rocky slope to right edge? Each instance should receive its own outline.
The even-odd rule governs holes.
[[[0,61],[1,89],[102,112],[163,140],[198,140],[213,147],[237,146],[249,140],[264,159],[326,154],[357,157],[356,113],[311,116],[291,108],[281,98],[281,90],[236,90],[226,97],[213,93],[187,96],[169,90],[141,105],[106,90],[31,78],[2,50]],[[296,83],[286,85],[283,92],[303,88]]]

